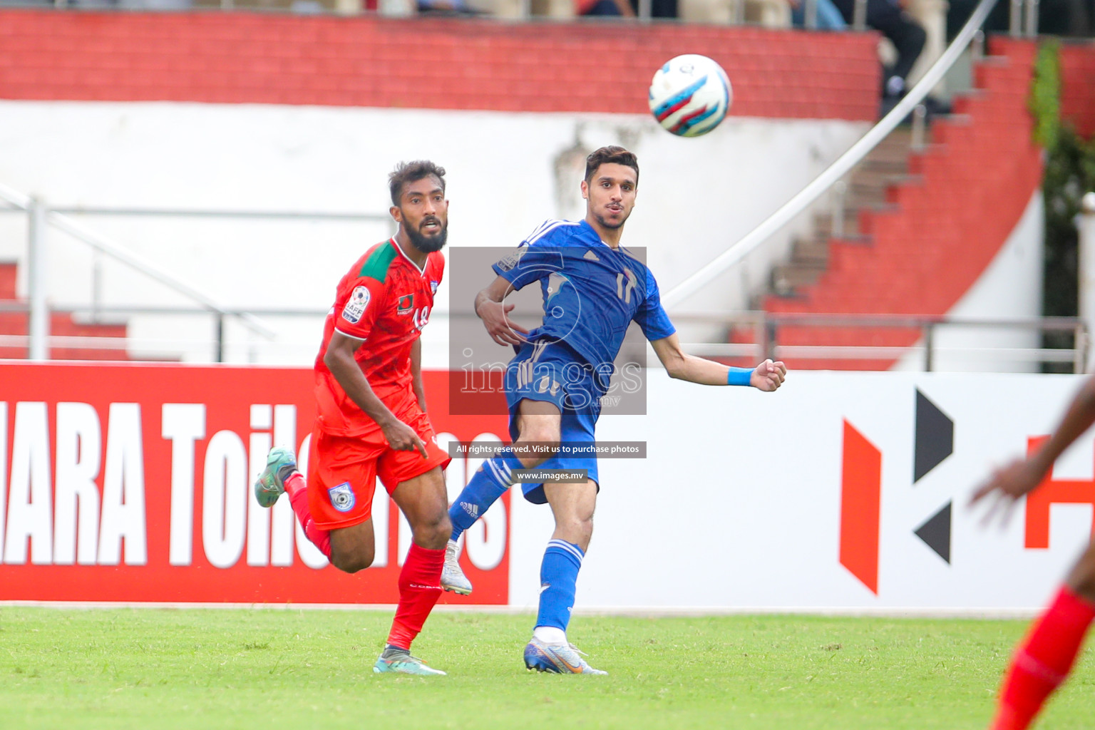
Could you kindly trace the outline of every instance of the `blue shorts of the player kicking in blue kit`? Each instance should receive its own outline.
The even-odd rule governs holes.
[[[574,350],[562,343],[526,343],[506,368],[506,404],[509,406],[509,438],[520,436],[518,407],[521,401],[546,401],[562,415],[560,441],[569,447],[595,442],[593,428],[601,413],[602,383],[611,375],[596,373]],[[597,456],[555,454],[537,468],[585,470],[598,484]],[[544,485],[522,484],[525,498],[544,505]]]

